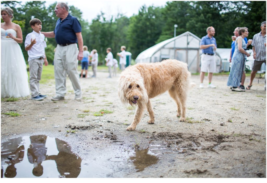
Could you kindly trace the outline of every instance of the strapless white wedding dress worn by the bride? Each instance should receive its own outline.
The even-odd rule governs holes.
[[[1,28],[1,98],[30,95],[25,59],[19,44],[6,37],[17,37],[14,29]]]

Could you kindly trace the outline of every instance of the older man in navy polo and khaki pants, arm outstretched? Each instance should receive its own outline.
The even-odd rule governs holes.
[[[54,56],[56,96],[51,100],[64,100],[67,92],[66,74],[68,74],[72,82],[75,93],[74,99],[81,100],[82,92],[77,71],[77,59],[83,59],[81,24],[76,17],[69,14],[69,6],[64,2],[57,3],[55,13],[59,17],[55,30],[52,32],[41,32],[46,37],[54,37],[58,44]]]

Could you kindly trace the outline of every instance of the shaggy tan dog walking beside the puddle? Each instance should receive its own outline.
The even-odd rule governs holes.
[[[170,59],[149,64],[139,63],[121,72],[118,89],[121,102],[138,105],[133,122],[126,130],[136,128],[145,107],[150,116],[147,123],[153,124],[155,117],[149,99],[167,90],[177,104],[176,116],[181,116],[180,121],[185,121],[187,91],[195,85],[190,83],[190,76],[186,63]]]

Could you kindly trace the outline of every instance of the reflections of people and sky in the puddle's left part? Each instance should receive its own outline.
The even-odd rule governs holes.
[[[81,158],[66,142],[34,135],[10,139],[1,144],[1,178],[78,177]]]

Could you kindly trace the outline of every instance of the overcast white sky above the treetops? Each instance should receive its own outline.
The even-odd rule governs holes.
[[[56,1],[46,1],[46,6]],[[57,1],[60,2],[60,1]],[[83,12],[84,20],[91,22],[102,11],[105,13],[105,17],[111,15],[116,16],[118,13],[122,13],[127,17],[131,17],[133,14],[138,14],[138,10],[142,5],[151,6],[164,6],[167,1],[164,0],[89,0],[89,1],[62,1],[73,5]]]

